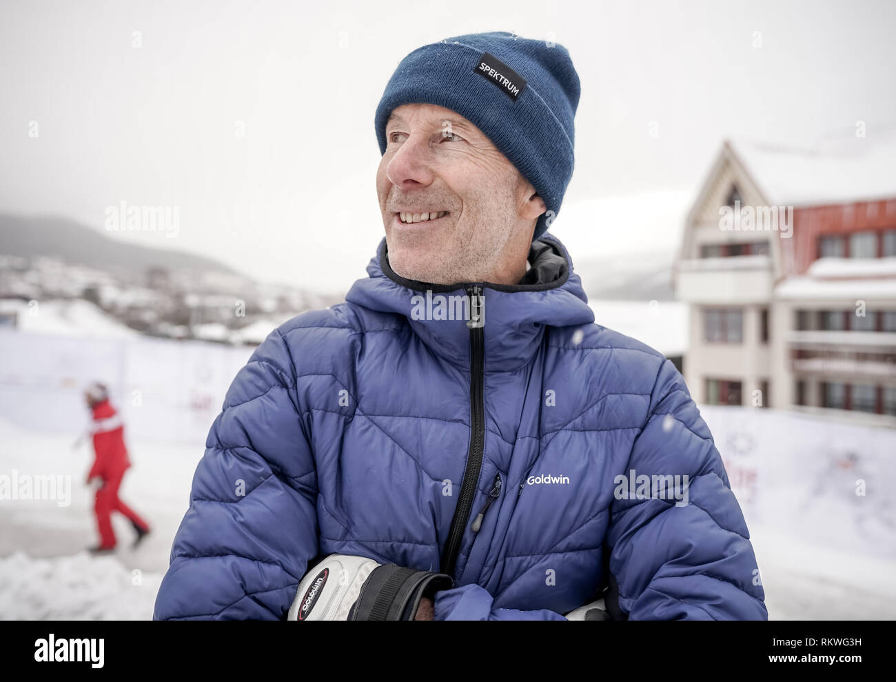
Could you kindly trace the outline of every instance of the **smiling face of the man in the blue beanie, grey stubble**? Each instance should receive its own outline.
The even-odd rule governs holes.
[[[392,270],[439,284],[518,281],[544,203],[513,164],[444,107],[395,108],[385,133],[376,191]]]

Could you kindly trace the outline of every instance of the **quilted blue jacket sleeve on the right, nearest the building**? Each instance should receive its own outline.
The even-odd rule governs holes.
[[[615,496],[607,545],[621,616],[766,620],[744,515],[710,430],[668,360],[659,369],[649,419],[625,470],[635,481],[642,474],[650,477],[651,490],[654,477],[679,475],[686,484],[677,497]]]

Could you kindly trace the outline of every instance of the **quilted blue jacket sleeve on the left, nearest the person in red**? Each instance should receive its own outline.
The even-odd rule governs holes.
[[[282,619],[317,554],[316,473],[279,331],[228,390],[153,618]]]

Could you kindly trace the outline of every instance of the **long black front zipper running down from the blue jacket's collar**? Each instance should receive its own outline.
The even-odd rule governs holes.
[[[485,425],[485,341],[482,331],[482,288],[474,284],[467,289],[470,297],[470,450],[467,453],[467,468],[463,472],[461,483],[461,499],[454,509],[451,530],[442,556],[442,573],[454,577],[457,555],[461,549],[463,531],[470,519],[470,507],[479,481],[479,470],[482,469],[482,451],[486,445]]]

